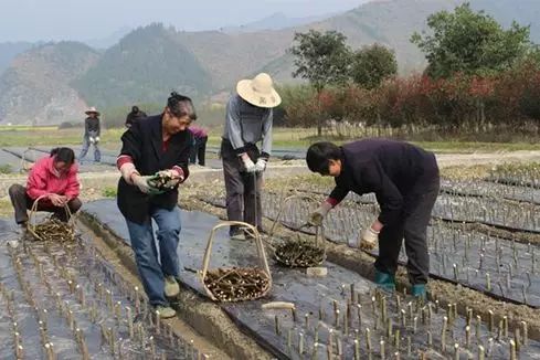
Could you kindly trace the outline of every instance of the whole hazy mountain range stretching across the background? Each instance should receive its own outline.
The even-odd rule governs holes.
[[[411,44],[411,34],[425,30],[430,14],[452,11],[460,2],[379,0],[315,22],[274,14],[226,31],[186,32],[151,24],[131,31],[104,52],[80,43],[38,46],[19,54],[0,77],[0,120],[59,121],[66,117],[67,108],[73,108],[70,116],[80,116],[85,104],[100,108],[163,104],[172,89],[198,100],[209,96],[223,100],[240,78],[261,71],[282,84],[298,81],[292,78],[294,59],[287,49],[295,32],[309,29],[340,31],[353,49],[384,44],[395,51],[402,74],[422,71],[425,60]],[[531,40],[540,43],[540,1],[472,0],[470,4],[504,25],[512,20],[530,24]],[[71,52],[76,70],[66,71]]]

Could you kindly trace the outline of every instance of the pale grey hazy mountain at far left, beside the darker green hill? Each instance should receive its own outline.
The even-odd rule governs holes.
[[[70,81],[98,53],[77,42],[49,43],[19,54],[0,76],[0,123],[57,124],[81,118],[86,103]]]

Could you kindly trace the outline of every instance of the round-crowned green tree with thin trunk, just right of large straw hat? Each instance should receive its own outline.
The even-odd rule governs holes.
[[[347,38],[337,31],[320,33],[309,30],[296,33],[289,53],[295,55],[296,71],[294,77],[309,81],[320,96],[322,89],[330,84],[347,82],[350,63],[350,50],[346,45]],[[322,133],[320,116],[317,117],[317,135]]]

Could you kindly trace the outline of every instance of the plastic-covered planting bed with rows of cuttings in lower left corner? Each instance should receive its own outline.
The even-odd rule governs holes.
[[[194,359],[91,241],[21,240],[0,220],[1,359]]]

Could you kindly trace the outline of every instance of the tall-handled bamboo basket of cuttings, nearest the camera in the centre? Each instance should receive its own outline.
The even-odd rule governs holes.
[[[245,227],[250,234],[253,235],[255,245],[257,247],[258,255],[258,267],[220,267],[215,269],[209,269],[210,264],[210,255],[212,253],[212,245],[214,241],[215,232],[224,226],[231,225],[240,225]],[[257,276],[261,282],[261,289],[254,294],[250,293],[250,287],[253,288],[254,284],[240,284],[239,286],[234,286],[236,284],[230,284],[225,286],[230,286],[231,293],[236,290],[235,296],[225,296],[224,294],[219,294],[216,290],[212,290],[214,286],[218,286],[220,280],[225,280],[227,277],[236,276],[235,279],[241,279],[244,274],[252,274]],[[210,275],[210,276],[209,276]],[[272,274],[268,267],[268,262],[266,260],[266,253],[264,251],[263,242],[261,240],[261,234],[257,229],[253,225],[250,225],[240,221],[224,221],[219,223],[212,229],[210,233],[207,250],[204,252],[203,265],[202,269],[199,273],[200,280],[208,296],[214,301],[221,303],[232,303],[232,301],[245,301],[245,300],[254,300],[267,295],[272,288]],[[211,279],[212,277],[213,279]]]

